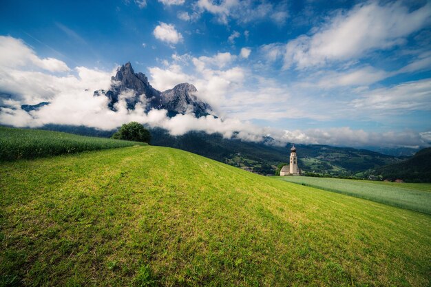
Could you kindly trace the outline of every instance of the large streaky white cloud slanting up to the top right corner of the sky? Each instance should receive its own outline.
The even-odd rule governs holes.
[[[430,22],[431,4],[409,11],[401,2],[381,6],[372,1],[339,13],[311,36],[302,35],[286,45],[284,68],[302,69],[330,61],[357,59],[373,50],[401,45],[405,37]],[[313,31],[313,30],[312,30]]]

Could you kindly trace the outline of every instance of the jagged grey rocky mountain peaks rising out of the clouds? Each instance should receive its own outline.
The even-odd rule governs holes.
[[[176,114],[195,114],[206,116],[211,107],[199,100],[194,93],[198,92],[195,86],[189,83],[176,85],[173,89],[159,92],[148,82],[143,73],[135,74],[130,62],[118,68],[115,76],[111,78],[112,85],[108,91],[100,89],[94,91],[94,96],[107,96],[108,107],[115,110],[120,94],[127,93],[125,98],[127,109],[134,109],[137,103],[142,103],[142,95],[145,95],[146,109],[167,109],[169,116]]]

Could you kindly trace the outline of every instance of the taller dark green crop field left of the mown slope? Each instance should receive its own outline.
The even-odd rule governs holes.
[[[0,161],[58,156],[67,153],[145,145],[110,138],[76,136],[58,131],[0,126]]]

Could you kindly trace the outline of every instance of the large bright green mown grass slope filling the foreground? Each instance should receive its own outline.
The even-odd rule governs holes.
[[[0,164],[0,285],[430,286],[431,217],[177,149]]]

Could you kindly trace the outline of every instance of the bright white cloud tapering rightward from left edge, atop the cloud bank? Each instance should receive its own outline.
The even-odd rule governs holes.
[[[0,36],[0,67],[38,67],[50,72],[67,72],[66,63],[54,58],[41,59],[20,39]]]

